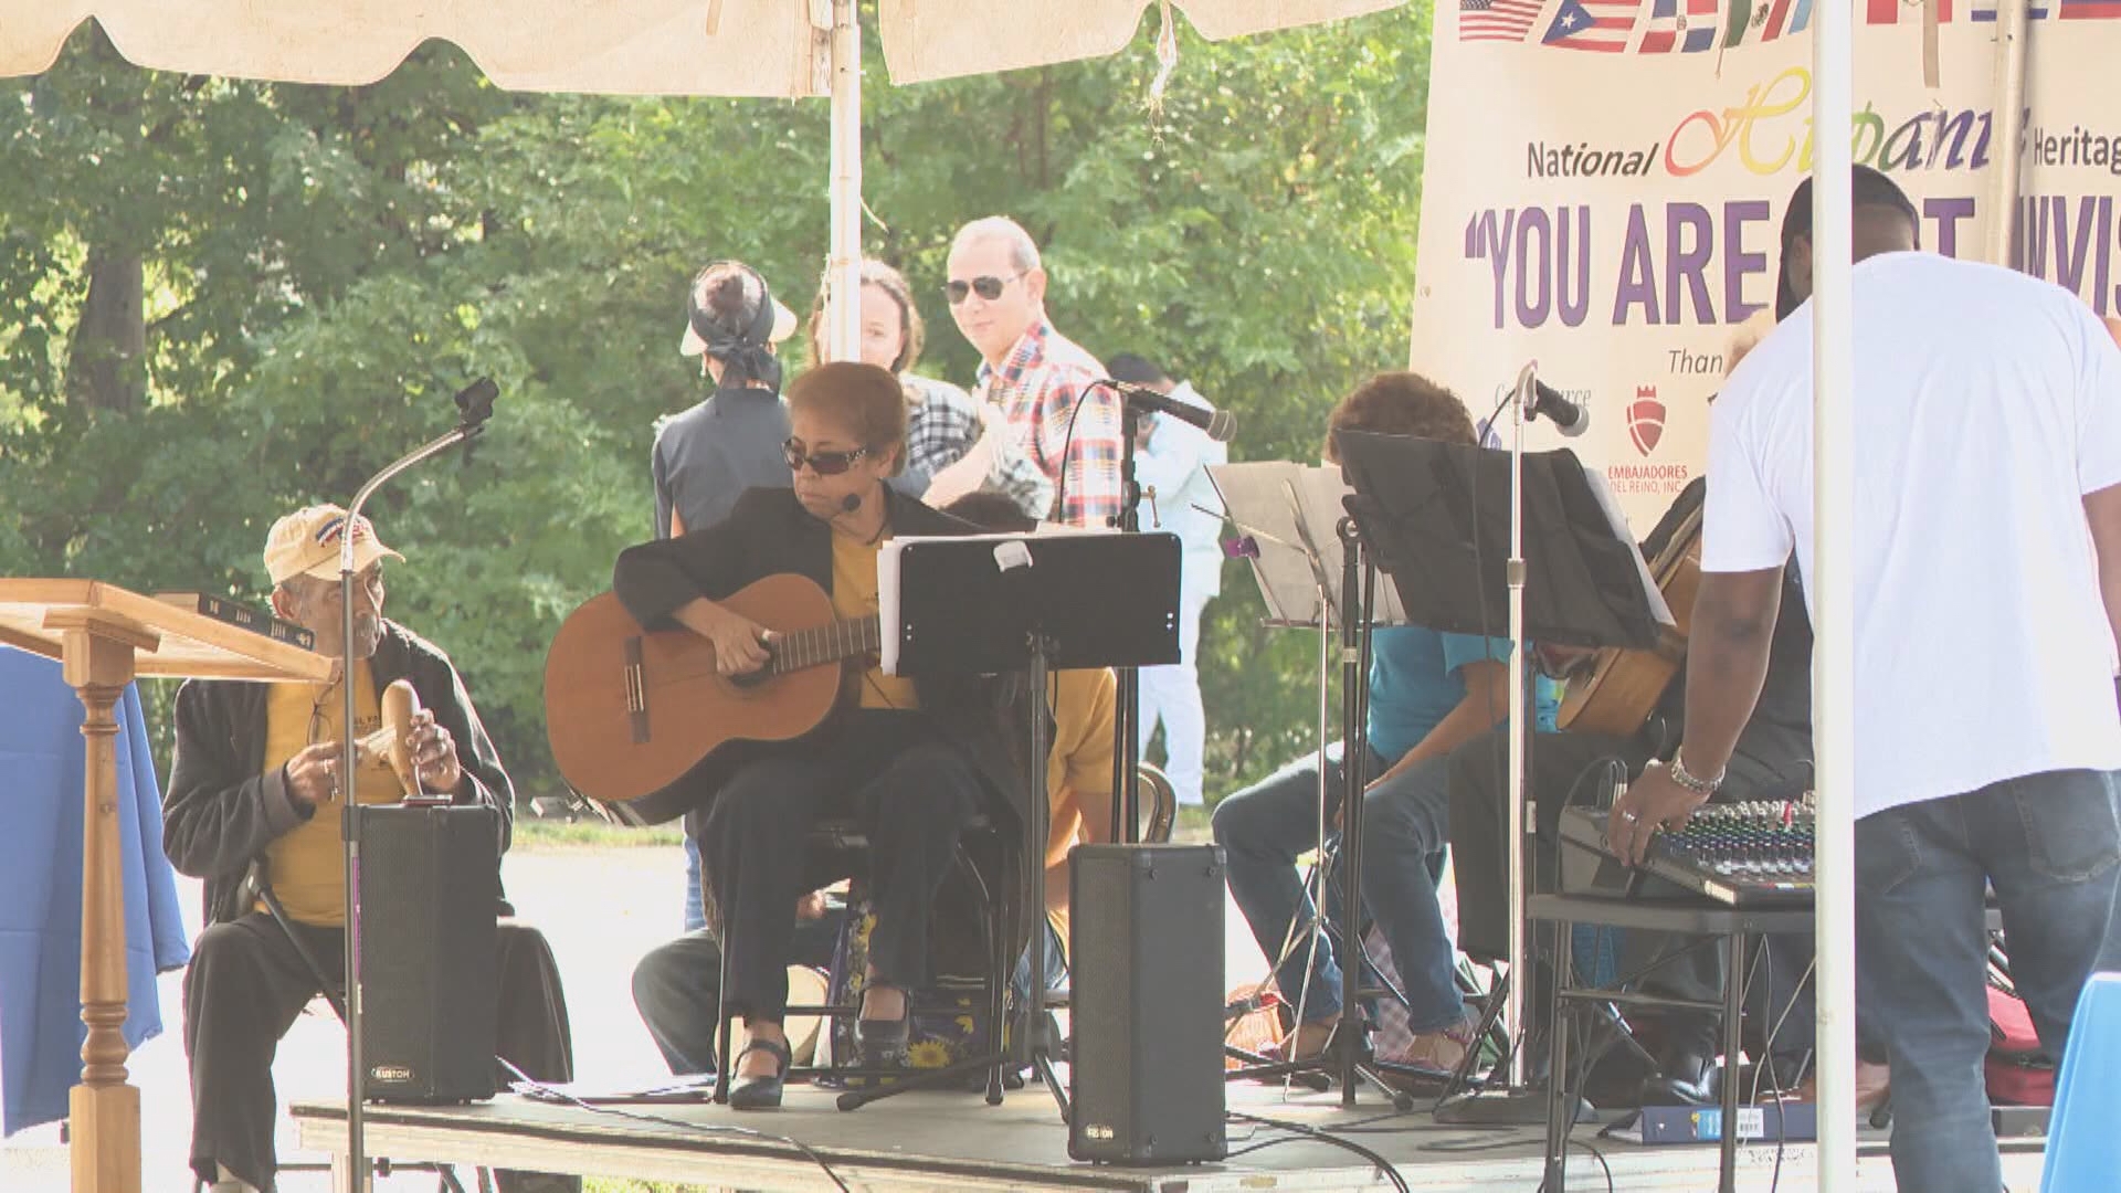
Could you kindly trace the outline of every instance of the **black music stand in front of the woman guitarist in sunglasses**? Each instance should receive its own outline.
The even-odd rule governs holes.
[[[878,558],[884,669],[912,679],[1024,671],[1031,749],[1024,756],[1022,919],[1046,923],[1048,671],[1158,667],[1179,658],[1179,539],[1171,533],[1050,533],[895,539]],[[1122,792],[1114,790],[1114,798]],[[1016,1049],[1046,1080],[1060,1121],[1067,1091],[1054,1076],[1058,1040],[1046,1013],[1046,949],[1029,940],[1031,991]],[[1010,974],[997,974],[1010,981]],[[952,1080],[1010,1064],[1016,1051],[995,1025],[995,1051],[910,1076],[884,1091],[857,1091],[842,1108],[878,1095]],[[991,1089],[995,1085],[991,1083]]]

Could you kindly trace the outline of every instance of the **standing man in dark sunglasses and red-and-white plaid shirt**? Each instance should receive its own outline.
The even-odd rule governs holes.
[[[974,397],[999,408],[1054,480],[1054,520],[1107,526],[1120,516],[1120,399],[1107,374],[1046,316],[1046,270],[1007,217],[976,219],[950,242],[950,318],[980,350]]]

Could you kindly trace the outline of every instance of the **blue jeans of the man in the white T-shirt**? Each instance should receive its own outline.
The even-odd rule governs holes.
[[[1892,1061],[1900,1189],[1996,1193],[1983,885],[2040,1049],[2059,1057],[2085,979],[2113,964],[2113,775],[2053,771],[1856,822],[1856,970]]]

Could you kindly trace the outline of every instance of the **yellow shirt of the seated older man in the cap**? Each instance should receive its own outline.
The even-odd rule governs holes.
[[[346,741],[346,692],[337,684],[274,684],[265,696],[265,773],[278,771],[310,741]],[[356,737],[382,728],[369,660],[354,664]],[[354,779],[363,805],[390,805],[405,796],[390,764],[375,756]],[[318,802],[310,819],[265,847],[265,877],[280,906],[301,923],[346,926],[346,838],[339,832],[341,800]]]

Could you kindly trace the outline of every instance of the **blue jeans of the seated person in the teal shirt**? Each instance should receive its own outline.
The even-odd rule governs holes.
[[[1328,781],[1338,788],[1338,747],[1328,751]],[[1383,771],[1372,751],[1366,775],[1374,781]],[[1436,875],[1451,843],[1447,779],[1447,760],[1432,758],[1370,788],[1362,802],[1362,902],[1391,947],[1413,1032],[1440,1032],[1466,1015],[1451,934],[1436,902]],[[1315,923],[1311,896],[1296,877],[1296,858],[1319,843],[1317,792],[1317,756],[1311,756],[1215,805],[1215,843],[1224,847],[1230,896],[1268,962],[1281,957],[1283,943],[1292,940],[1290,923],[1298,913],[1307,928]],[[1300,998],[1309,1021],[1338,1015],[1340,968],[1332,945],[1317,936],[1313,955],[1302,932],[1294,934],[1294,943],[1275,966],[1281,998],[1292,1004]]]

